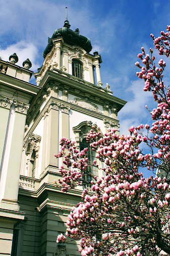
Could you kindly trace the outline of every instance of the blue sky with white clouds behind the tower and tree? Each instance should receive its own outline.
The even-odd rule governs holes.
[[[90,38],[92,53],[97,50],[101,54],[103,86],[109,83],[114,96],[128,101],[118,114],[120,133],[128,133],[131,125],[149,123],[145,105],[152,108],[152,96],[143,91],[144,83],[137,78],[134,63],[139,60],[141,46],[146,50],[153,46],[150,33],[158,36],[170,23],[170,2],[6,0],[1,4],[0,54],[8,60],[16,52],[21,66],[29,58],[36,72],[43,63],[48,36],[64,24],[66,6],[70,28],[78,27],[80,34]]]

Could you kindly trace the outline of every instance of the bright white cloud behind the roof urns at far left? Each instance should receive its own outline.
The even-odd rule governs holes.
[[[35,71],[39,67],[39,64],[36,62],[38,50],[32,43],[20,41],[8,46],[6,49],[0,48],[0,52],[2,53],[3,59],[6,61],[9,61],[9,56],[11,54],[16,53],[19,58],[19,61],[16,63],[17,65],[22,66],[23,61],[29,58],[32,62],[31,70]]]

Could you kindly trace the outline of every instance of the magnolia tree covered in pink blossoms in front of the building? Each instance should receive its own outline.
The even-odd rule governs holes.
[[[170,56],[170,26],[158,38],[151,34],[160,55]],[[170,254],[170,89],[163,82],[165,62],[155,63],[153,50],[138,54],[137,76],[145,82],[144,91],[151,91],[157,107],[150,112],[152,126],[130,127],[130,135],[117,135],[115,129],[102,136],[93,126],[87,136],[97,163],[104,162],[105,175],[93,176],[91,186],[82,192],[82,201],[72,208],[66,236],[80,240],[82,256],[87,255],[158,255]],[[148,153],[140,149],[145,143]],[[67,152],[67,154],[65,154]],[[67,192],[83,185],[83,175],[90,174],[88,149],[79,153],[75,142],[61,139],[66,169],[61,167],[62,190]],[[99,164],[99,167],[101,165]],[[96,168],[96,167],[95,167]],[[142,168],[153,171],[143,177]],[[156,172],[158,175],[155,175]],[[59,235],[57,241],[65,241]]]

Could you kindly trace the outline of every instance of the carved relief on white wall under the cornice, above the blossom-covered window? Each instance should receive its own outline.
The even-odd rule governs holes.
[[[74,98],[74,101],[70,100],[70,103],[89,109],[91,111],[102,113],[99,111],[98,106],[92,103],[88,98]]]

